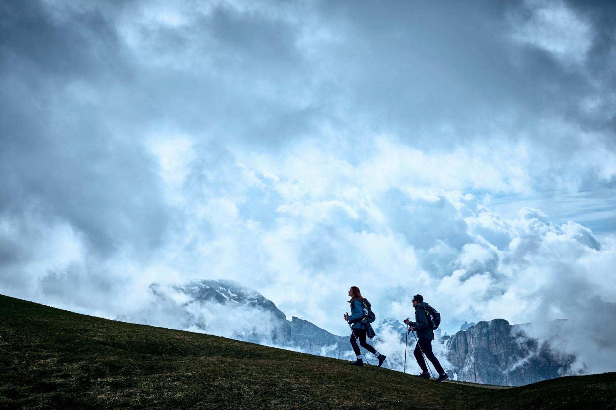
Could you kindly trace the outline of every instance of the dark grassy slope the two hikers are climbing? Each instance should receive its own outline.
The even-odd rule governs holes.
[[[616,408],[616,373],[506,390],[0,295],[0,408]]]

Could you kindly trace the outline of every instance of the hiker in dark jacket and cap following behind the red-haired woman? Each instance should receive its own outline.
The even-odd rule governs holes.
[[[415,321],[411,322],[407,319],[404,320],[404,323],[408,324],[410,328],[408,328],[408,332],[417,332],[418,341],[415,345],[415,358],[422,372],[418,375],[423,379],[429,379],[430,374],[428,373],[428,368],[426,368],[426,361],[421,354],[423,352],[424,355],[428,358],[429,361],[434,364],[434,369],[439,372],[439,378],[436,379],[437,382],[442,382],[443,380],[447,380],[449,376],[443,370],[443,367],[440,365],[439,360],[432,353],[432,340],[434,340],[434,331],[430,329],[428,325],[428,315],[426,315],[426,307],[428,303],[423,301],[422,295],[413,296],[413,306],[415,307]]]

